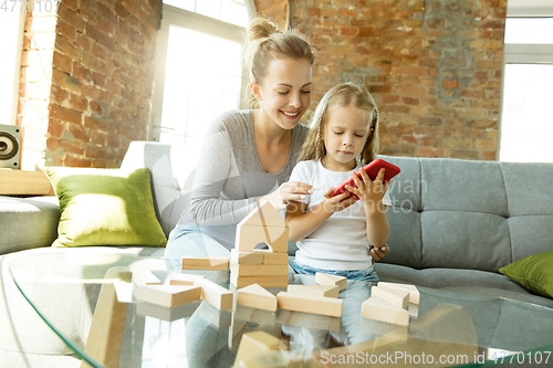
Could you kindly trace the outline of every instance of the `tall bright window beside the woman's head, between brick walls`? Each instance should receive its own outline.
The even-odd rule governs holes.
[[[240,106],[250,15],[243,0],[165,0],[163,12],[152,139],[199,151],[210,123]]]

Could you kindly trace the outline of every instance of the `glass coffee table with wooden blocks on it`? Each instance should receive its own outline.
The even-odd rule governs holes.
[[[87,337],[93,315],[105,314],[100,296],[107,290],[124,305],[121,336],[106,335],[115,343],[98,341],[116,347],[109,367],[553,366],[553,309],[513,299],[419,287],[419,304],[409,306],[409,327],[359,316],[353,344],[337,317],[241,305],[219,311],[202,301],[173,308],[137,302],[129,275],[147,270],[167,282],[180,273],[169,260],[87,249],[21,256],[9,269],[82,367],[106,366],[100,362],[106,359],[90,353]],[[228,271],[187,273],[236,292]],[[276,337],[280,348],[234,361],[242,337],[253,332]]]

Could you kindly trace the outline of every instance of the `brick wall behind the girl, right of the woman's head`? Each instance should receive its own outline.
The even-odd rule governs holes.
[[[364,83],[388,155],[495,159],[507,0],[290,0],[317,50],[314,109]]]

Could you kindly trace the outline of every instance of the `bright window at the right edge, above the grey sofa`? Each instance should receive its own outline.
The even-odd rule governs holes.
[[[528,9],[531,2],[514,0],[514,7],[510,9],[510,4],[508,2],[505,22],[499,159],[553,162],[553,115],[550,107],[553,9]]]

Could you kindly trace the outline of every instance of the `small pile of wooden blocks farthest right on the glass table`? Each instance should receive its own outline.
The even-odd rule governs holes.
[[[414,315],[413,311],[418,311],[409,306],[418,305],[419,295],[414,285],[379,282],[378,286],[373,286],[372,296],[363,302],[361,315],[374,320],[408,326],[409,314]]]

